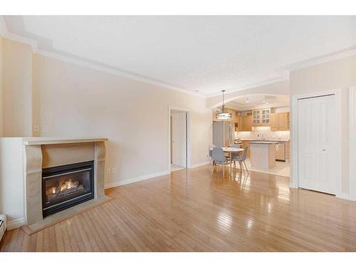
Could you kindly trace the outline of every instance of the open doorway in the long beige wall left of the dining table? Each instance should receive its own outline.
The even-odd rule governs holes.
[[[170,164],[171,171],[186,169],[188,166],[188,112],[170,112]]]

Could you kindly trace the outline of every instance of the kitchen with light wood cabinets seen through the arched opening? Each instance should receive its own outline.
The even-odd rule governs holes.
[[[285,95],[249,95],[226,104],[226,120],[213,114],[216,147],[248,147],[249,170],[290,177],[290,112]]]

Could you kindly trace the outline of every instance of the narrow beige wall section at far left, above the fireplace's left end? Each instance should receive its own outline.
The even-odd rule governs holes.
[[[31,46],[2,38],[3,135],[32,135]]]

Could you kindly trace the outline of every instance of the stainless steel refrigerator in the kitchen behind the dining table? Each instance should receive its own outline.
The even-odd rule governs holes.
[[[216,147],[226,147],[234,144],[234,122],[213,122],[213,144]]]

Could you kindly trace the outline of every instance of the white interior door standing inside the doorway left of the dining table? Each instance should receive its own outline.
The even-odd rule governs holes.
[[[172,114],[172,163],[187,167],[187,112]]]

